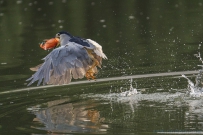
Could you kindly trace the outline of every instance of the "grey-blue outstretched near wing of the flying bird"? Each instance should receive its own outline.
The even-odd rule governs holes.
[[[65,46],[54,49],[44,59],[44,63],[27,81],[31,85],[38,81],[38,86],[43,81],[45,84],[68,84],[72,77],[83,78],[92,60],[83,46],[69,42]],[[94,69],[97,72],[96,68]]]

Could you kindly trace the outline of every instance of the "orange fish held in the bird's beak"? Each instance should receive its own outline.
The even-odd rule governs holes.
[[[40,47],[44,50],[55,48],[59,45],[59,38],[51,38],[45,39],[41,44]]]

